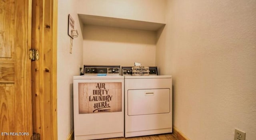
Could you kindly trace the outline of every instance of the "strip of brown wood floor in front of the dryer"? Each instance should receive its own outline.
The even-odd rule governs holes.
[[[131,138],[106,138],[102,140],[179,140],[177,135],[174,133],[168,134],[158,134],[158,135],[150,135],[150,136],[138,136]]]

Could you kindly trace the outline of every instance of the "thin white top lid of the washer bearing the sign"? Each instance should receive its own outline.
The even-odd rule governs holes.
[[[74,76],[73,79],[124,79],[124,76],[120,76],[120,75],[107,75],[107,76],[81,75],[81,76]]]

